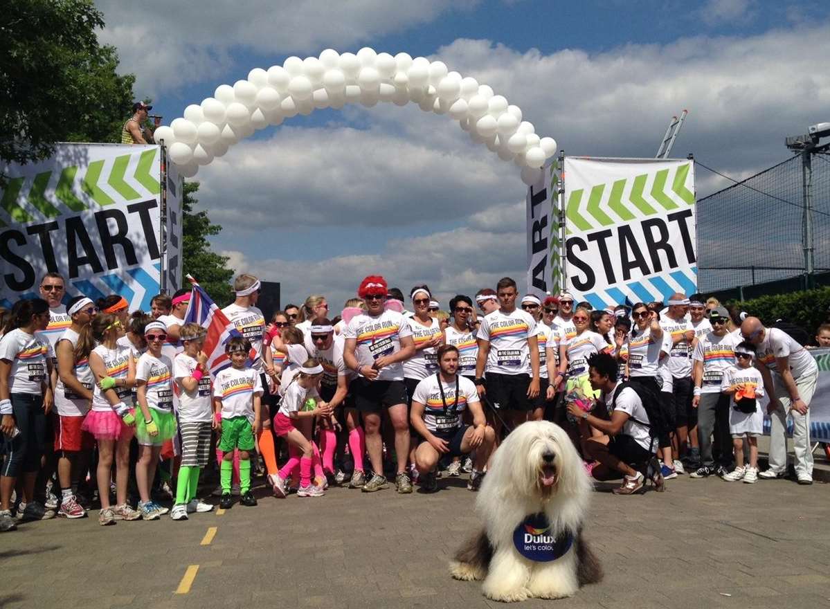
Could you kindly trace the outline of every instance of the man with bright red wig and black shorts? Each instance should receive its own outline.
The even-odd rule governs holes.
[[[395,455],[398,458],[395,486],[398,493],[411,493],[412,480],[407,473],[408,396],[403,383],[403,362],[415,353],[412,329],[402,314],[384,309],[387,284],[380,275],[364,278],[358,295],[364,299],[366,311],[355,315],[343,330],[343,361],[346,368],[358,373],[349,391],[354,395],[354,406],[363,415],[366,451],[374,471],[361,490],[372,493],[387,486],[380,436],[381,414],[386,408],[395,431]]]

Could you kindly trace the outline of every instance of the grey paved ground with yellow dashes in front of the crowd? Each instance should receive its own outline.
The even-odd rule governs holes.
[[[463,482],[440,483],[263,497],[187,522],[22,524],[0,535],[0,607],[496,606],[447,575],[476,519]],[[668,485],[634,497],[599,485],[586,533],[606,577],[560,607],[830,607],[830,486]]]

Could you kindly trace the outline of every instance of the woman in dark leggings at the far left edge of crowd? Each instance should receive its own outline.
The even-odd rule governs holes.
[[[0,432],[6,453],[0,470],[0,531],[15,528],[9,508],[21,474],[23,501],[17,513],[32,519],[55,517],[53,510],[34,501],[46,441],[46,414],[52,404],[49,343],[37,334],[48,324],[46,300],[18,300],[0,340]]]

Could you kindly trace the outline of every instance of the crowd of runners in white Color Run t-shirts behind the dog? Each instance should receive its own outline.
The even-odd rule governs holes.
[[[686,473],[783,477],[789,419],[796,478],[812,483],[812,355],[714,299],[594,310],[567,292],[520,297],[505,277],[442,312],[427,285],[405,297],[370,275],[337,315],[310,295],[268,322],[259,280],[233,287],[222,312],[237,334],[215,377],[206,329],[185,323],[190,290],[131,312],[120,295],[66,300],[49,273],[41,298],[2,311],[0,531],[93,503],[102,525],[188,519],[213,509],[198,490],[215,472],[222,509],[256,505],[257,475],[276,498],[388,478],[430,492],[462,472],[475,491],[505,435],[542,419],[569,432],[589,475],[622,479],[618,495]]]

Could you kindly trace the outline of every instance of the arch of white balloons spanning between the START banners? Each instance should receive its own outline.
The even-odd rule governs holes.
[[[346,104],[372,107],[378,101],[413,102],[424,112],[448,114],[473,141],[520,167],[527,184],[540,178],[545,160],[556,153],[556,141],[535,134],[520,108],[488,85],[448,71],[442,61],[413,59],[407,53],[391,56],[369,47],[342,55],[326,49],[319,57],[289,57],[267,71],[254,68],[247,80],[219,85],[201,105],[188,105],[183,118],[156,129],[155,139],[164,139],[170,160],[191,178],[200,166],[270,124]]]

